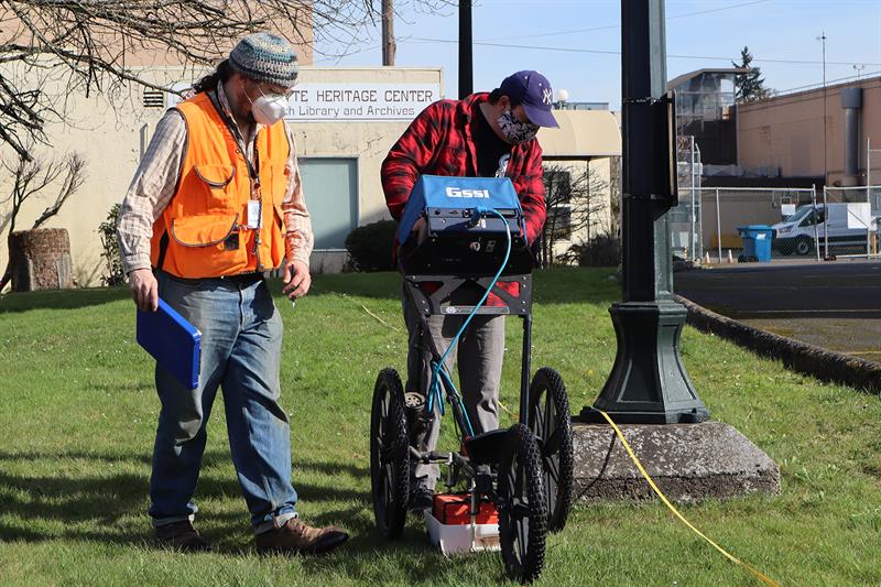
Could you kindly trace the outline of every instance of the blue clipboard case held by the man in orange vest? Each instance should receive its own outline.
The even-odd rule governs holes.
[[[199,385],[202,333],[162,298],[155,312],[138,311],[137,338],[182,384]]]

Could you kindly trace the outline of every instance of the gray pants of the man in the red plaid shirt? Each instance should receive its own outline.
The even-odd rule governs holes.
[[[454,293],[453,303],[474,304],[476,298],[469,294]],[[432,352],[427,336],[443,355],[466,316],[429,316],[428,333],[422,331],[418,311],[406,295],[403,297],[404,322],[410,335],[406,361],[405,391],[416,391],[423,395],[428,390],[432,378]],[[459,383],[465,410],[475,434],[499,427],[499,384],[502,376],[504,356],[504,316],[475,316],[459,338],[458,348],[447,355],[445,366],[453,373],[453,365],[458,356]],[[434,418],[422,434],[414,439],[418,450],[434,450],[440,435],[439,405],[434,405]],[[434,489],[440,477],[437,465],[416,465],[411,472],[412,480],[428,489]],[[414,486],[415,487],[415,486]]]

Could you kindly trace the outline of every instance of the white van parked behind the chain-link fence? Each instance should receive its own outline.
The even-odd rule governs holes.
[[[811,254],[815,239],[824,249],[859,249],[866,251],[868,236],[875,231],[877,218],[871,218],[868,204],[807,204],[795,214],[773,225],[773,248],[783,254]],[[868,226],[867,226],[868,225]]]

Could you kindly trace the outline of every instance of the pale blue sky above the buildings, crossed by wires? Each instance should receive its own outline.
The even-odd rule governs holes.
[[[749,46],[766,88],[786,93],[881,75],[881,0],[667,0],[667,79],[730,67]],[[458,94],[456,7],[437,13],[398,0],[395,65],[439,66],[445,96]],[[475,0],[474,86],[491,90],[520,69],[542,72],[570,101],[621,105],[619,0]],[[381,65],[380,31],[349,47],[322,44],[316,66]],[[855,67],[856,66],[856,67]]]

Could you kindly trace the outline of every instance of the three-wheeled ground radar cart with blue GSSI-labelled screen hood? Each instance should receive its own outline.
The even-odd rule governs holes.
[[[435,494],[434,508],[425,513],[433,542],[445,553],[501,550],[507,573],[532,581],[544,564],[547,532],[562,530],[568,517],[572,418],[556,371],[542,368],[530,382],[533,257],[513,185],[508,178],[422,176],[404,210],[398,242],[404,295],[417,308],[423,331],[429,316],[464,320],[447,349],[424,337],[432,356],[427,390],[405,393],[392,368],[377,378],[370,474],[378,530],[388,539],[401,534],[412,467],[445,465],[448,491]],[[482,297],[472,305],[452,303],[461,289],[482,292]],[[444,367],[476,315],[523,320],[520,415],[508,430],[475,433],[474,414]],[[453,412],[458,449],[416,449],[414,436],[443,414],[445,402]]]

